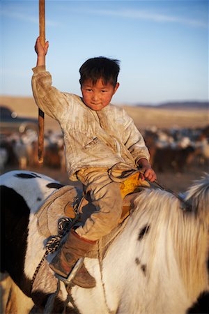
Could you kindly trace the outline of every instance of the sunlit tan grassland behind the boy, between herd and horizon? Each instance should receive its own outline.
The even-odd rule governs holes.
[[[0,104],[11,107],[18,115],[24,117],[38,117],[38,108],[33,98],[0,96]],[[207,110],[165,110],[153,107],[130,107],[123,105],[127,113],[134,119],[137,128],[144,129],[150,126],[157,128],[204,127],[209,124]],[[45,116],[45,128],[59,130],[59,124]]]

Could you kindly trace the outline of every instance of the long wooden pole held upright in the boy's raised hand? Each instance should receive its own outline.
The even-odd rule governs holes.
[[[39,36],[40,43],[45,46],[45,0],[39,0]],[[38,161],[43,162],[44,156],[45,113],[38,109]]]

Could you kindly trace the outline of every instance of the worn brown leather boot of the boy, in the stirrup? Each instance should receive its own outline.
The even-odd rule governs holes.
[[[95,244],[96,241],[90,241],[79,237],[74,230],[70,230],[67,241],[53,258],[49,267],[56,274],[67,278],[77,260],[79,260],[80,257],[84,257],[89,251],[93,251]],[[88,273],[86,267],[82,264],[82,267],[77,271],[75,278],[72,279],[72,283],[75,283],[75,285],[79,285],[80,287],[92,288],[95,287],[95,278]]]

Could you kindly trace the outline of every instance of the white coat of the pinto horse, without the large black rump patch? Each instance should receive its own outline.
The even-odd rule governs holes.
[[[8,202],[11,203],[8,199],[13,198],[12,204],[18,213],[18,197],[25,202],[26,211],[29,209],[28,222],[24,223],[28,232],[21,247],[26,285],[45,253],[46,241],[38,234],[35,214],[56,190],[56,182],[42,174],[14,171],[1,176],[1,186],[7,209]],[[209,176],[196,182],[186,198],[192,204],[192,211],[183,211],[175,196],[160,189],[145,188],[137,194],[134,211],[107,249],[102,263],[96,258],[84,260],[89,273],[95,277],[96,287],[72,287],[72,299],[79,313],[183,314],[202,292],[208,291]],[[21,204],[21,208],[24,206]],[[7,260],[3,271],[8,271],[13,278],[15,274],[8,263]],[[40,294],[56,290],[53,271],[47,262],[44,267],[38,288]],[[21,283],[21,275],[13,280],[30,298],[28,287]],[[67,296],[61,283],[59,308]],[[66,313],[77,313],[70,302]]]

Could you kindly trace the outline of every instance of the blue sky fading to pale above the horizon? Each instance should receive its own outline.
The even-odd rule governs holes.
[[[45,0],[47,70],[54,87],[80,93],[91,57],[121,61],[112,103],[208,100],[208,0]],[[0,94],[32,96],[38,0],[0,0]]]

